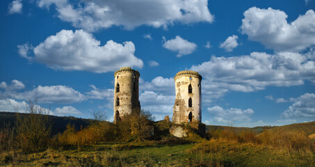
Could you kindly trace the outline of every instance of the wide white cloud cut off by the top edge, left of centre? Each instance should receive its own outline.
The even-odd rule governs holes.
[[[125,29],[140,25],[165,28],[175,22],[213,22],[207,0],[82,0],[72,3],[67,0],[38,0],[40,7],[49,9],[52,4],[56,6],[60,19],[86,31],[111,26],[124,26]]]

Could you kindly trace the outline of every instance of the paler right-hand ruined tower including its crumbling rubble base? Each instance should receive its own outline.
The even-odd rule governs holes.
[[[174,77],[176,99],[173,106],[173,125],[170,134],[177,137],[189,136],[192,127],[197,134],[206,134],[206,125],[201,122],[201,81],[198,72],[184,70],[177,72]]]

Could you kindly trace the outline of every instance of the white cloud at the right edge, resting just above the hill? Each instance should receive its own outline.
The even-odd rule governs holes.
[[[294,103],[282,113],[284,118],[315,118],[315,94],[305,93],[292,98]]]

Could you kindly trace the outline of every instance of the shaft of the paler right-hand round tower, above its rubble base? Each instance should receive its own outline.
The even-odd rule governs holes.
[[[184,70],[174,77],[176,99],[172,122],[201,123],[201,80],[198,72]]]

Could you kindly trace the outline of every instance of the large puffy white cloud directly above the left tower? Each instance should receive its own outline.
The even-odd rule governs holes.
[[[18,46],[22,50],[25,46]],[[62,30],[49,36],[33,48],[35,56],[22,56],[43,63],[55,70],[89,72],[115,71],[120,67],[143,67],[143,61],[134,56],[133,42],[119,44],[108,40],[101,46],[92,34],[83,30]]]

